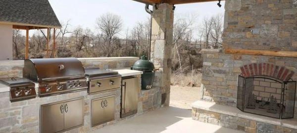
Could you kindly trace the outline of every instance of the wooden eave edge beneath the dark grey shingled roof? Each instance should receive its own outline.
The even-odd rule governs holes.
[[[14,23],[14,22],[1,22],[0,24],[4,25],[12,25],[13,29],[20,29],[20,30],[26,30],[29,28],[29,30],[34,30],[34,29],[48,29],[48,28],[56,28],[59,29],[61,27],[59,26],[46,26],[46,25],[33,25],[33,24],[22,24],[22,23]]]

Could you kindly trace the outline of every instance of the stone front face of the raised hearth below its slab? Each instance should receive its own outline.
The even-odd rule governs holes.
[[[206,111],[198,108],[192,109],[192,117],[204,123],[219,125],[225,128],[244,131],[246,133],[297,133],[296,129],[283,126],[257,122],[227,114]]]

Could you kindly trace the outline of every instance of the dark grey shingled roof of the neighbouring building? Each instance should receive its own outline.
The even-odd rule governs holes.
[[[60,28],[49,0],[0,0],[0,23]]]

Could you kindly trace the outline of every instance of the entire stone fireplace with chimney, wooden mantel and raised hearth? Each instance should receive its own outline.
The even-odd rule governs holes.
[[[226,0],[222,49],[202,49],[193,119],[297,133],[297,0]],[[292,119],[286,119],[292,118]]]

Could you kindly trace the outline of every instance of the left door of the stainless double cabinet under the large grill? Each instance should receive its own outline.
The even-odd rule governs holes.
[[[41,107],[41,132],[56,133],[64,130],[64,104],[58,103]]]

